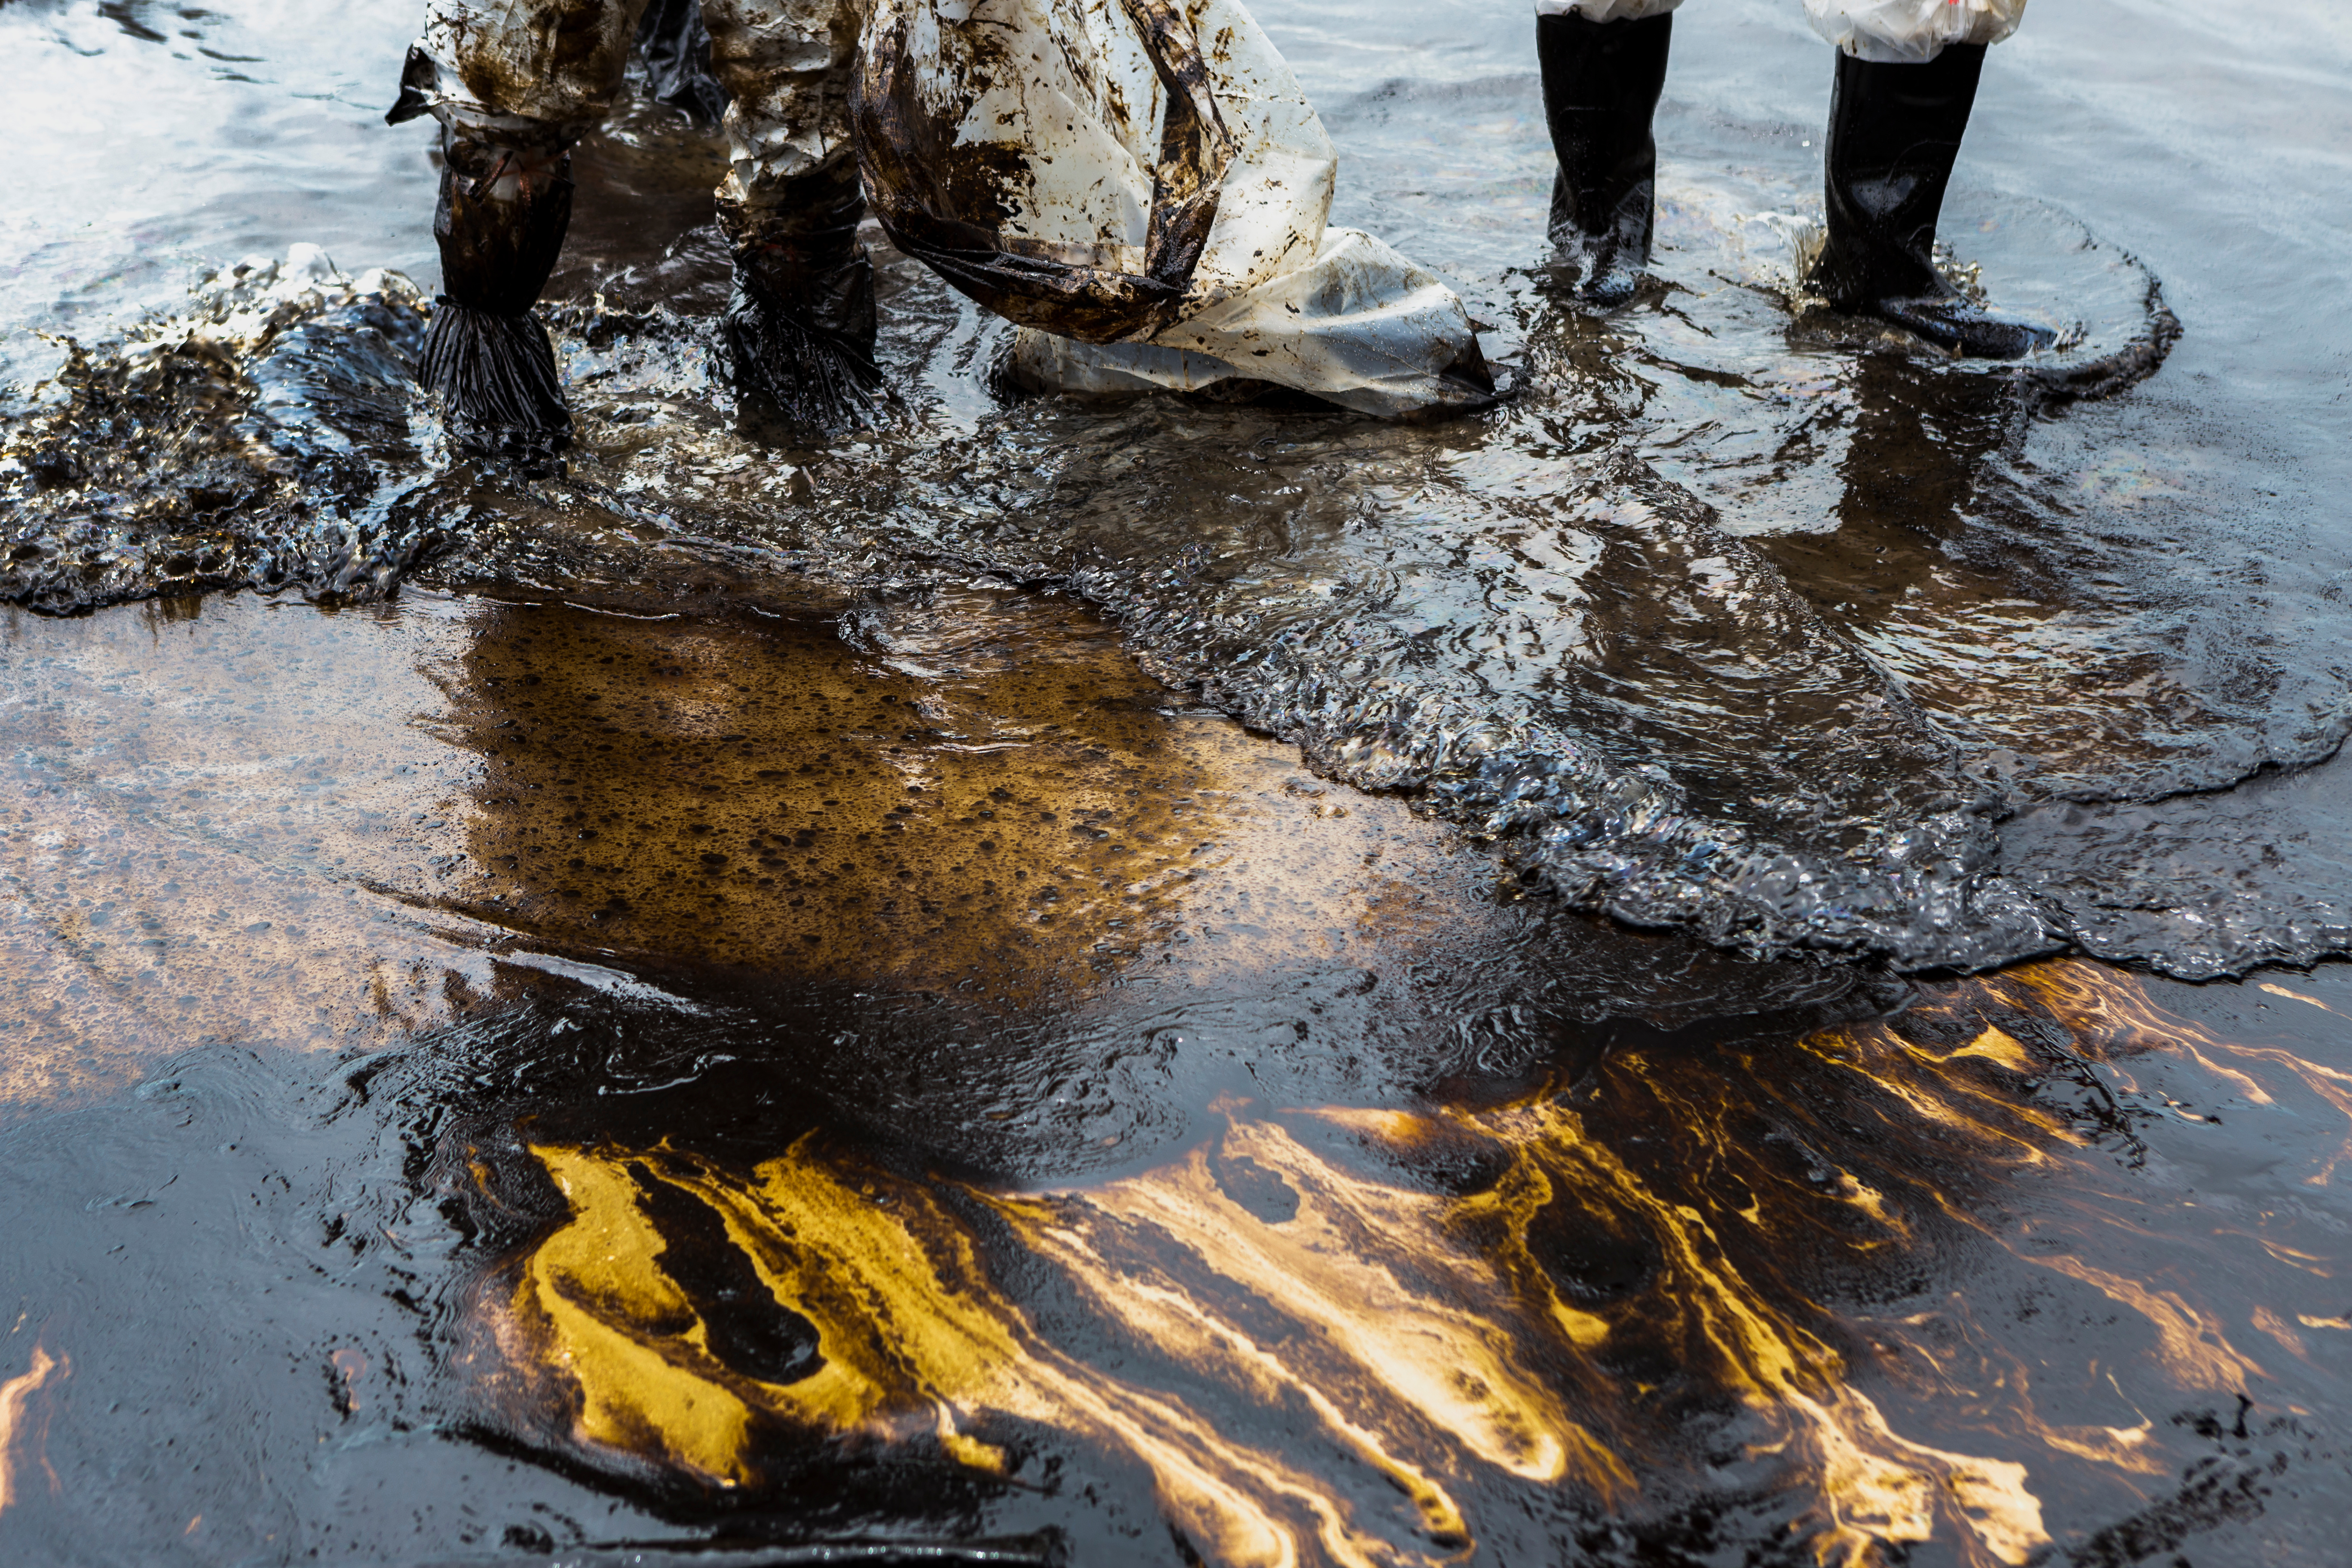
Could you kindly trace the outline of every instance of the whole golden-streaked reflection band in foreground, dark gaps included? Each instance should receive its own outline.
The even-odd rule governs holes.
[[[757,1161],[515,1143],[468,1201],[553,1185],[557,1218],[473,1295],[475,1373],[576,1462],[720,1493],[788,1493],[842,1443],[1047,1490],[1131,1462],[1218,1563],[1522,1561],[1529,1514],[1691,1549],[1726,1507],[1823,1563],[2025,1563],[2051,1526],[2131,1561],[2084,1526],[2194,1476],[2199,1401],[2277,1429],[2303,1378],[2258,1354],[2307,1361],[2274,1267],[2249,1298],[2206,1272],[2260,1260],[2244,1237],[2103,1267],[2143,1056],[2333,1107],[2298,1180],[2352,1147],[2352,1079],[2079,964],[1503,1105],[1225,1100],[1204,1145],[1075,1190],[821,1133]]]

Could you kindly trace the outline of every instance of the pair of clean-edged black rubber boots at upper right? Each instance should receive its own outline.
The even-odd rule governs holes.
[[[1552,244],[1576,292],[1623,303],[1649,266],[1672,12],[1639,21],[1536,19],[1543,108],[1559,155]],[[2016,360],[2046,348],[2042,327],[1987,313],[1936,270],[1936,219],[1985,68],[1983,45],[1947,45],[1924,66],[1837,56],[1830,92],[1828,237],[1806,287],[1959,355]]]

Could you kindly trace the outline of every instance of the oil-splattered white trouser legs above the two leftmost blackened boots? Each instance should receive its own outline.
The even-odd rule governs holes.
[[[579,141],[621,94],[647,0],[433,0],[405,99],[459,136],[517,148]],[[797,179],[856,160],[849,85],[866,0],[703,0],[727,106],[722,200],[767,207]]]

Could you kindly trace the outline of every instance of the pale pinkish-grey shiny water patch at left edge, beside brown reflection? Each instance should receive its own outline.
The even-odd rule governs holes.
[[[447,799],[442,748],[407,729],[433,689],[348,658],[395,618],[289,609],[0,623],[0,1105],[73,1103],[200,1041],[381,1044],[489,980],[466,922],[360,893],[430,875]]]

